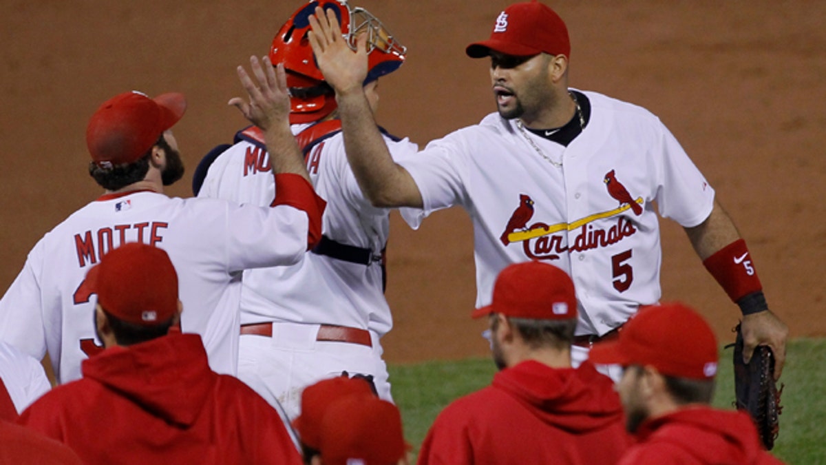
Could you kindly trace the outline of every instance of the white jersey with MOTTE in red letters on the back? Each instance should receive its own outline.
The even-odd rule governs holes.
[[[81,377],[99,350],[97,298],[83,285],[100,257],[126,242],[169,253],[183,302],[181,328],[200,333],[210,366],[235,374],[241,271],[295,263],[306,250],[307,213],[221,200],[171,199],[134,191],[106,194],[37,242],[0,300],[0,340],[41,359],[48,350],[60,382]]]

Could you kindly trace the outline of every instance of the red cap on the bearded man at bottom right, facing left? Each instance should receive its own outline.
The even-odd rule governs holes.
[[[676,302],[639,309],[618,339],[594,344],[588,357],[594,363],[650,365],[664,375],[705,380],[717,374],[717,351],[705,319]]]

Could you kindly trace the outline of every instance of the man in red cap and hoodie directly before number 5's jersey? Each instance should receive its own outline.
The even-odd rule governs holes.
[[[487,317],[500,372],[442,410],[418,463],[616,463],[631,436],[614,383],[590,362],[571,367],[577,296],[565,271],[509,265],[472,316]]]

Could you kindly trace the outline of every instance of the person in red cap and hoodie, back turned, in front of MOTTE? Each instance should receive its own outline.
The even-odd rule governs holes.
[[[178,277],[159,247],[131,242],[103,256],[86,276],[97,293],[87,316],[106,350],[20,423],[85,463],[301,463],[278,411],[235,376],[211,371],[201,336],[178,330],[190,311]]]

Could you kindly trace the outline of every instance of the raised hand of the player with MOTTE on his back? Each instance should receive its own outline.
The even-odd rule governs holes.
[[[267,56],[261,61],[256,56],[249,57],[255,82],[244,70],[244,66],[238,67],[238,79],[247,91],[249,102],[235,97],[230,98],[229,104],[238,108],[249,122],[260,127],[263,132],[276,125],[289,127],[290,94],[284,65],[279,64],[273,68]]]

